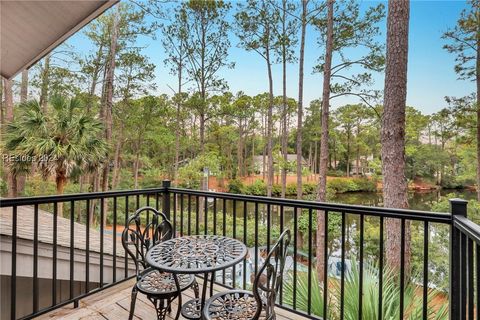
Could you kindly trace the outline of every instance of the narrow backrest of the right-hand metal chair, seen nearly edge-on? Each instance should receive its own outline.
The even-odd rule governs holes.
[[[283,271],[285,268],[285,259],[287,257],[287,249],[290,244],[290,230],[285,230],[280,235],[278,241],[272,247],[263,266],[258,270],[253,282],[253,295],[259,306],[257,308],[254,319],[260,317],[260,313],[265,312],[265,318],[275,318],[275,300],[278,290],[283,281]]]

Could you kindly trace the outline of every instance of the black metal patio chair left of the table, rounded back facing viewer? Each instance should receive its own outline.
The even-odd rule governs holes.
[[[144,213],[144,218],[141,214]],[[150,213],[152,215],[150,216]],[[144,227],[142,227],[142,221]],[[178,297],[181,306],[181,292],[196,285],[194,275],[173,274],[152,269],[145,260],[147,251],[161,241],[171,239],[173,228],[164,213],[152,207],[138,209],[127,221],[122,233],[122,245],[135,263],[137,282],[132,288],[129,320],[135,312],[137,293],[145,294],[157,312],[158,319],[165,319],[172,310],[172,302]],[[180,307],[177,308],[178,318]]]

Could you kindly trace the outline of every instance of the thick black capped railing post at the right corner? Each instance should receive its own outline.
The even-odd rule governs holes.
[[[460,231],[455,227],[456,216],[467,216],[468,201],[463,199],[450,199],[450,212],[452,223],[450,225],[450,319],[459,319],[461,309],[460,292]]]

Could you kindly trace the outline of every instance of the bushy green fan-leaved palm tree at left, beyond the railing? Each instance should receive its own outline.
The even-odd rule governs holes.
[[[34,162],[44,178],[55,176],[57,193],[62,194],[74,168],[104,161],[107,145],[101,138],[102,125],[84,112],[81,100],[54,96],[46,114],[33,100],[19,109],[19,117],[6,128],[10,166],[24,166],[25,159]]]

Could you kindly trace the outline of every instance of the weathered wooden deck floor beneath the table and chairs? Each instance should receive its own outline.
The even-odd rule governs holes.
[[[197,279],[201,282],[201,279]],[[133,286],[133,280],[126,281],[112,288],[103,290],[102,292],[86,297],[79,302],[78,308],[73,305],[54,310],[50,313],[37,317],[35,319],[62,319],[62,320],[78,320],[78,319],[128,319],[128,311],[130,310],[130,293]],[[220,286],[214,287],[214,292],[225,290]],[[193,291],[187,290],[183,293],[183,301],[193,298]],[[172,310],[172,318],[175,316],[176,306]],[[277,308],[277,319],[279,320],[300,320],[305,317],[288,312],[284,309]],[[155,310],[145,295],[139,293],[135,305],[135,319],[154,320]],[[180,319],[183,317],[180,316]]]

